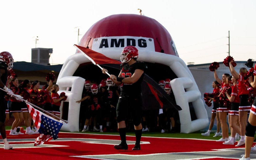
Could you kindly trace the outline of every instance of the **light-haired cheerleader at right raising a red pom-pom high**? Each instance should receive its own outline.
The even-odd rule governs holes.
[[[245,144],[245,127],[247,122],[247,113],[251,109],[251,105],[248,102],[249,98],[249,91],[246,89],[246,85],[243,83],[244,77],[242,74],[247,73],[247,69],[242,67],[239,70],[239,74],[235,71],[234,67],[232,66],[233,61],[229,62],[229,69],[232,74],[237,80],[237,89],[238,89],[238,96],[239,96],[239,124],[241,130],[241,139],[237,143],[236,146],[241,146]]]

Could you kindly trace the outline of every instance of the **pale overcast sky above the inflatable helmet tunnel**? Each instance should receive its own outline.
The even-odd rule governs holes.
[[[126,2],[126,3],[125,3]],[[138,14],[161,23],[172,36],[185,63],[256,59],[256,1],[1,1],[0,51],[15,61],[31,62],[31,48],[53,48],[52,64],[63,64],[79,40],[98,20],[113,14]]]

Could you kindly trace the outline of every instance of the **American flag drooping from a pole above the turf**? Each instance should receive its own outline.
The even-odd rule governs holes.
[[[50,141],[52,138],[56,140],[60,131],[62,122],[53,119],[52,117],[36,110],[30,104],[27,103],[28,111],[35,123],[40,136],[36,138],[34,146],[44,144],[44,142]]]

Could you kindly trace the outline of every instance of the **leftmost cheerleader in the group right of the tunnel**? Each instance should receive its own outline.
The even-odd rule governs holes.
[[[214,95],[216,95],[216,94],[219,95],[220,89],[219,89],[218,84],[219,84],[219,83],[218,83],[217,81],[213,81],[213,82],[212,82],[212,88],[214,88],[214,89],[213,89],[213,94],[214,94]],[[214,134],[213,137],[217,137],[217,136],[221,135],[221,133],[220,133],[220,119],[219,119],[219,114],[218,114],[218,112],[216,112],[216,111],[217,111],[217,108],[219,108],[219,103],[218,103],[218,101],[217,101],[217,98],[218,98],[218,97],[214,96],[214,98],[212,98],[212,97],[209,97],[209,96],[208,96],[207,98],[209,98],[210,101],[213,101],[213,108],[212,108],[212,110],[211,110],[211,120],[210,120],[209,129],[208,129],[207,132],[201,133],[201,135],[203,135],[203,136],[209,136],[209,135],[210,135],[210,132],[211,132],[211,129],[212,129],[213,125],[214,125],[214,120],[215,120],[215,117],[216,117],[216,121],[217,121],[217,132]],[[210,102],[209,102],[209,103],[210,103]]]

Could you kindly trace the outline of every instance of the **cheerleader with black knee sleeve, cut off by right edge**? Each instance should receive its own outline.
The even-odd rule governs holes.
[[[253,72],[253,77],[249,77],[249,83],[253,88],[256,88],[256,65],[254,66],[254,72]],[[240,113],[239,113],[240,116]],[[256,147],[252,147],[253,139],[254,139],[254,134],[256,130],[256,97],[254,98],[250,114],[249,114],[249,119],[246,125],[246,138],[245,138],[245,153],[242,155],[242,158],[240,160],[249,160],[250,159],[250,152],[251,151],[256,151]]]

